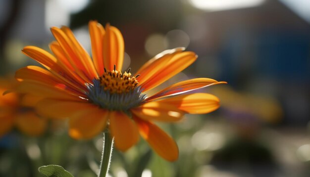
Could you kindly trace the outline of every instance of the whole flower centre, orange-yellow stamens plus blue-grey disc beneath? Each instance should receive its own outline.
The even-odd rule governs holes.
[[[103,76],[93,79],[92,84],[87,84],[86,92],[89,101],[104,109],[128,111],[132,107],[139,106],[146,97],[138,86],[137,77],[133,77],[128,71],[122,73],[115,69],[104,69]]]

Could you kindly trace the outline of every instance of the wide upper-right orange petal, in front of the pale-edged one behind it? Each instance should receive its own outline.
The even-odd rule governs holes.
[[[158,58],[139,73],[139,85],[144,91],[155,88],[161,83],[167,81],[191,65],[197,58],[197,55],[194,52],[173,51],[174,53],[166,54]]]

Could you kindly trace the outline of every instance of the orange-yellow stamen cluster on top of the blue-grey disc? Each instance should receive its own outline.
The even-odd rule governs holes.
[[[99,78],[100,85],[103,86],[104,90],[109,90],[110,93],[129,92],[135,89],[139,84],[136,77],[132,77],[129,72],[127,73],[125,71],[125,73],[122,74],[121,71],[115,69],[112,71],[104,69],[104,71],[103,76]]]

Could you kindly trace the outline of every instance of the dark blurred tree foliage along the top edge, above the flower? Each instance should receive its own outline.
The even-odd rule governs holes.
[[[175,27],[181,15],[179,0],[92,0],[84,10],[71,15],[70,26],[77,28],[93,19],[115,26],[140,22],[161,31]]]

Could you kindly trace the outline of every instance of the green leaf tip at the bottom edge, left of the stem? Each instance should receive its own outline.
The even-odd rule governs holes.
[[[73,177],[68,171],[59,165],[48,165],[39,167],[39,172],[46,177]]]

